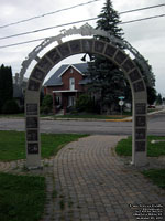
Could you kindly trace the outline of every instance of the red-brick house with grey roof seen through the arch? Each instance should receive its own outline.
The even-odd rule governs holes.
[[[87,92],[90,82],[87,73],[88,64],[64,64],[44,84],[44,93],[53,96],[53,110],[57,114],[69,110],[76,98]]]

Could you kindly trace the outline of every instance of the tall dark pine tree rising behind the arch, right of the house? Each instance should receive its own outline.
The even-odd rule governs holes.
[[[123,39],[123,31],[119,28],[120,19],[113,9],[111,0],[106,3],[98,15],[97,28],[110,32],[112,35]],[[99,40],[109,42],[109,39],[96,36]],[[91,77],[90,90],[100,95],[100,109],[114,110],[118,106],[119,96],[127,96],[130,99],[131,92],[128,92],[128,82],[120,69],[108,59],[95,55],[95,61],[89,63],[88,74]],[[130,88],[130,86],[129,86]]]

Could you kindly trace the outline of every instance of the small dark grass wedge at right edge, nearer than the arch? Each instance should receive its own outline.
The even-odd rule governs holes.
[[[150,178],[153,183],[165,189],[165,169],[150,169],[142,172],[145,177]]]

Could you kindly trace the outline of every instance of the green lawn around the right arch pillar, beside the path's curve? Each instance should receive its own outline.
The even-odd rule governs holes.
[[[158,157],[165,155],[165,141],[151,144],[151,140],[164,139],[165,137],[148,136],[147,137],[147,156]],[[116,151],[120,156],[132,156],[132,137],[128,139],[122,139],[118,143]]]

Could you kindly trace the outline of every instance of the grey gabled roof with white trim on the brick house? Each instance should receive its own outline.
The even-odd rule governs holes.
[[[80,74],[85,74],[88,69],[87,63],[77,63],[77,64],[63,64],[51,77],[45,82],[45,86],[58,86],[63,85],[62,75],[70,66],[75,67]]]

